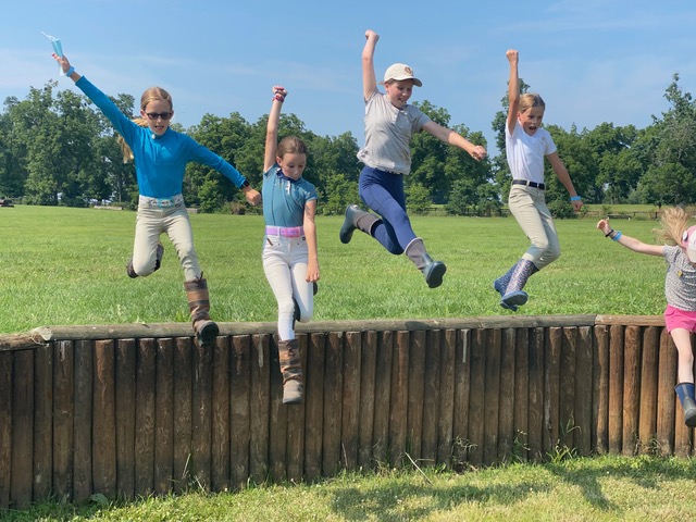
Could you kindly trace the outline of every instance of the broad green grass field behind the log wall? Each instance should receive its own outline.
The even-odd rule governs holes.
[[[259,215],[192,214],[195,241],[220,322],[275,321],[261,265]],[[505,315],[492,289],[524,252],[512,217],[412,219],[448,271],[430,289],[405,256],[357,233],[338,240],[339,216],[320,216],[320,291],[315,320],[438,319]],[[135,212],[17,206],[0,209],[0,333],[45,325],[187,322],[183,271],[172,244],[162,269],[130,279]],[[660,314],[664,263],[606,239],[596,219],[557,221],[561,258],[530,279],[518,314]],[[655,221],[617,220],[616,228],[651,241]]]

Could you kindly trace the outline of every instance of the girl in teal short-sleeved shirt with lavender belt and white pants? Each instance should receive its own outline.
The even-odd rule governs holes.
[[[281,109],[287,91],[273,87],[263,160],[263,270],[278,303],[278,357],[283,403],[302,401],[302,366],[295,320],[312,319],[319,281],[316,257],[316,189],[302,178],[307,147],[287,136],[278,144]]]

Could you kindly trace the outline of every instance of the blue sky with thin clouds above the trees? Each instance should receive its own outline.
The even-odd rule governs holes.
[[[567,129],[649,125],[668,109],[674,73],[696,92],[693,0],[14,0],[0,20],[0,97],[24,99],[29,87],[59,78],[46,32],[109,95],[139,99],[149,86],[166,88],[185,126],[204,113],[256,122],[281,84],[285,112],[308,129],[349,130],[362,144],[368,28],[381,36],[377,77],[394,62],[410,64],[423,80],[412,100],[484,133],[492,152],[509,48],[546,101],[546,123]],[[59,88],[74,87],[61,77]]]

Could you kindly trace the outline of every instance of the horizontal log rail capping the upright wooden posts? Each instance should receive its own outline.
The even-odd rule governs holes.
[[[595,325],[663,326],[661,315],[492,315],[448,319],[395,319],[313,321],[296,325],[297,333],[388,332],[431,330],[481,330],[568,327]],[[217,323],[220,335],[275,334],[275,322]],[[40,326],[22,334],[0,335],[0,351],[26,350],[59,340],[192,337],[190,323],[127,323],[111,325]]]

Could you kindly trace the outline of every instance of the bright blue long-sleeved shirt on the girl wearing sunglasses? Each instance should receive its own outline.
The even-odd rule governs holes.
[[[189,161],[214,169],[238,188],[245,183],[246,178],[234,166],[191,137],[171,128],[158,136],[123,114],[85,76],[75,85],[103,112],[133,150],[138,189],[142,196],[169,198],[182,194],[184,171]]]

